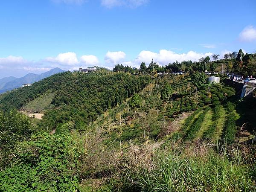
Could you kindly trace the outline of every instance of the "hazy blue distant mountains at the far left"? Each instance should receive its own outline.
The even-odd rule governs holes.
[[[34,83],[36,81],[40,81],[41,79],[44,79],[46,77],[52,76],[55,73],[62,73],[64,70],[61,70],[60,68],[56,67],[54,69],[51,69],[45,73],[41,73],[40,75],[29,73],[26,76],[23,76],[21,78],[16,77],[5,77],[3,79],[0,79],[0,93],[4,93],[8,90],[12,90],[18,87],[21,87],[23,84],[27,83]]]

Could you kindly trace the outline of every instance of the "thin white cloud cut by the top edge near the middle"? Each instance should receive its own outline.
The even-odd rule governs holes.
[[[102,6],[107,8],[117,7],[117,6],[128,6],[131,8],[136,8],[148,3],[148,0],[101,0]]]

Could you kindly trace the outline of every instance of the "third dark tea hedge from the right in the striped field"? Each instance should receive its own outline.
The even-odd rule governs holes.
[[[192,140],[196,137],[197,132],[201,129],[201,125],[204,122],[205,115],[210,109],[210,107],[207,107],[205,111],[201,113],[197,119],[195,119],[195,121],[186,133],[186,139]]]

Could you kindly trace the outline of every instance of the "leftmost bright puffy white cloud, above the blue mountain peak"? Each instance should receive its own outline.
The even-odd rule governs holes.
[[[69,66],[73,66],[79,63],[76,57],[76,53],[74,52],[60,53],[57,55],[57,57],[47,57],[45,60],[48,62]]]

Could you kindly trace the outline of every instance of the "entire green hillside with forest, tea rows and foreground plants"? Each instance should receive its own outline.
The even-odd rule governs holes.
[[[256,95],[156,66],[65,72],[1,95],[0,190],[255,191]]]

